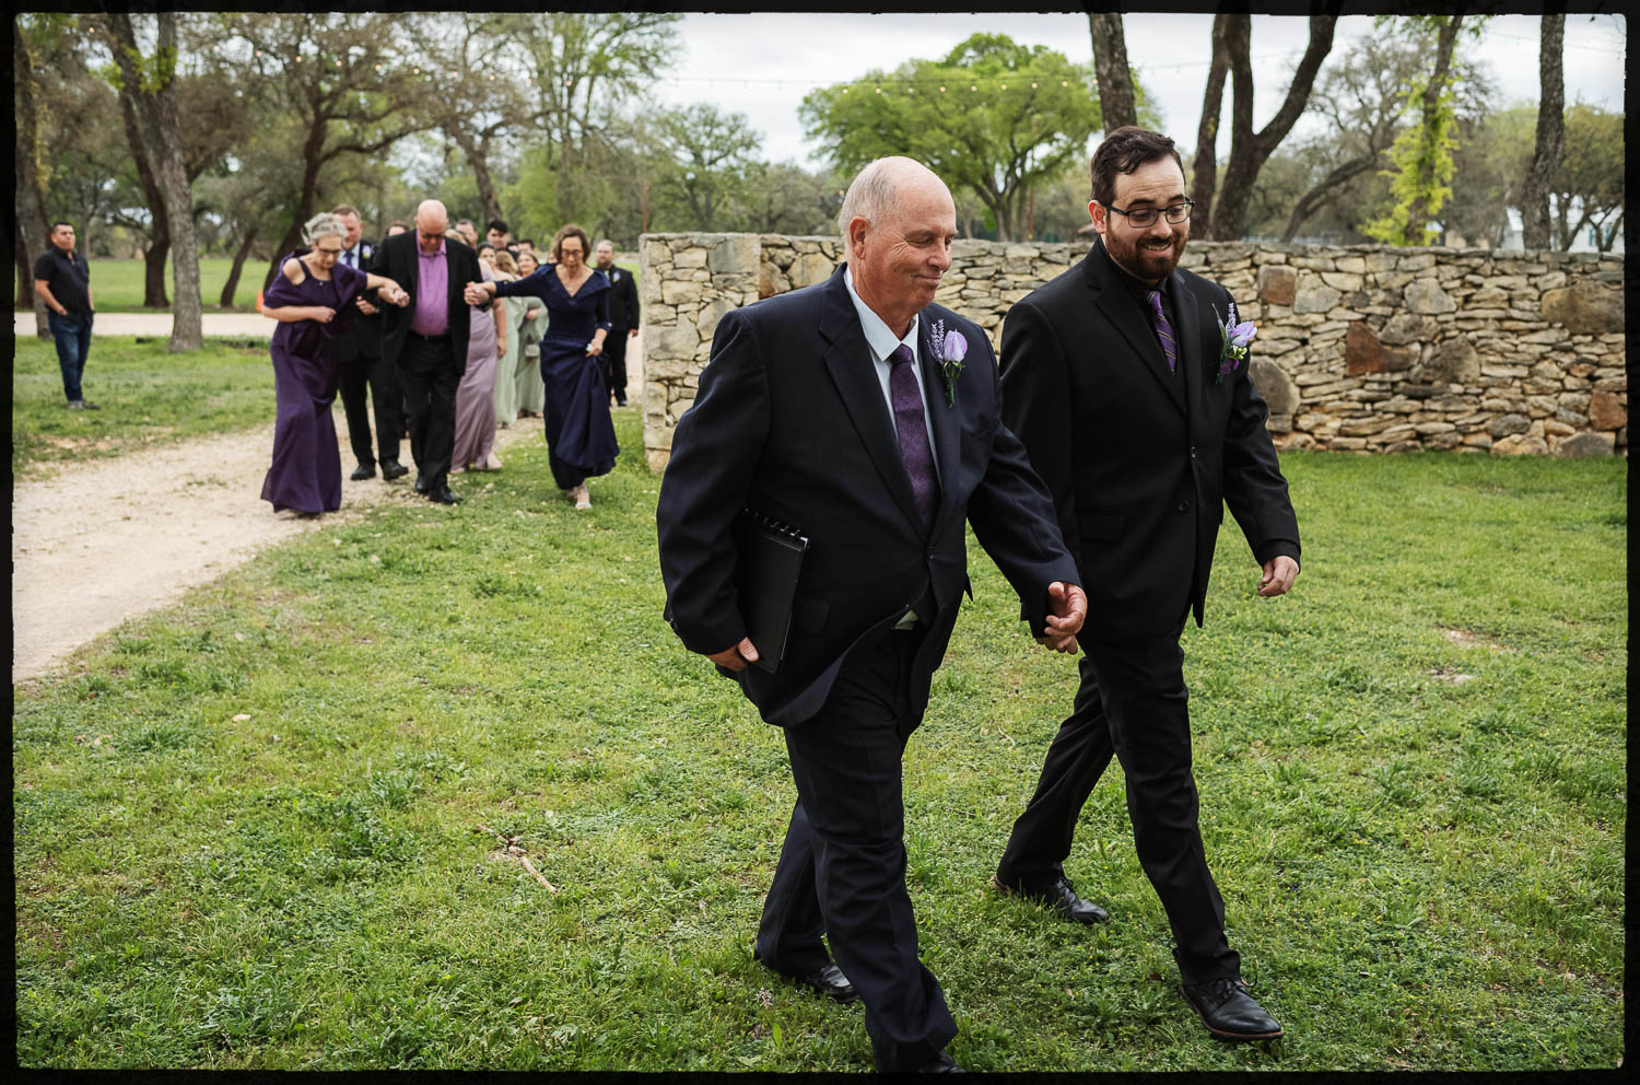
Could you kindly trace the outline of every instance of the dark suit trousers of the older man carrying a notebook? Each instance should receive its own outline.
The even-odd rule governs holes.
[[[859,991],[879,1070],[912,1070],[956,1036],[940,982],[917,955],[905,891],[900,757],[920,632],[856,648],[820,712],[786,729],[797,806],[758,927],[758,957],[807,973],[831,955]]]

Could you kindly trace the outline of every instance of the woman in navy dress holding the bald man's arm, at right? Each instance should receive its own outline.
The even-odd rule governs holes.
[[[467,304],[485,297],[540,297],[546,304],[541,379],[546,382],[546,446],[553,481],[577,509],[590,509],[587,479],[615,468],[620,446],[599,355],[610,330],[608,279],[587,264],[592,245],[581,227],[553,236],[553,258],[517,282],[469,282]]]

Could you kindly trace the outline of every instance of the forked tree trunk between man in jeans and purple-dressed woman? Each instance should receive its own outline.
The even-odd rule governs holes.
[[[175,287],[175,304],[171,309],[172,351],[194,351],[202,346],[200,317],[200,259],[194,240],[194,194],[189,185],[189,167],[182,158],[182,120],[177,108],[177,16],[161,11],[159,39],[153,64],[136,46],[136,30],[131,16],[115,13],[108,25],[115,36],[115,62],[120,66],[121,94],[130,92],[143,149],[154,167],[156,181],[171,225],[171,274]],[[143,67],[157,71],[139,72]]]

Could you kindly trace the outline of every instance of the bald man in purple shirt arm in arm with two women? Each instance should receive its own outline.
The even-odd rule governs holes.
[[[481,277],[477,254],[444,236],[449,213],[438,200],[421,200],[415,230],[390,236],[371,268],[410,294],[403,309],[389,309],[382,356],[395,366],[403,392],[418,494],[453,506],[449,456],[456,442],[456,386],[467,373],[467,300],[462,291]],[[367,292],[374,294],[374,292]],[[377,304],[374,295],[367,300]],[[489,307],[489,302],[484,304]]]

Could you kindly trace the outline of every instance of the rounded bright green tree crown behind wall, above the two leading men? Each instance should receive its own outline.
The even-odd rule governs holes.
[[[1092,82],[1046,46],[974,34],[938,61],[907,61],[815,90],[800,115],[838,167],[915,158],[953,192],[973,192],[1012,238],[1027,190],[1081,163],[1099,131]]]

